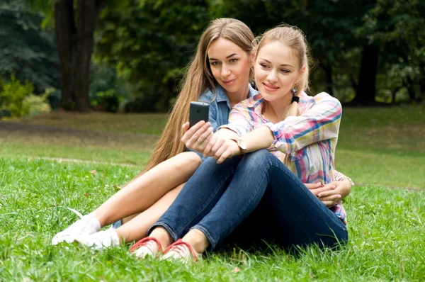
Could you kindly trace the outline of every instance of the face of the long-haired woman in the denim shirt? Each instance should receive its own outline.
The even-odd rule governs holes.
[[[208,48],[208,60],[214,76],[227,96],[246,98],[249,82],[249,55],[225,38],[214,40]]]

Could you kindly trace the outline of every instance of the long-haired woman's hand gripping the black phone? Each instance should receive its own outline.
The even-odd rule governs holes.
[[[181,137],[181,142],[183,142],[188,149],[203,153],[205,146],[213,135],[211,123],[205,123],[205,121],[201,120],[191,128],[189,128],[189,126],[189,123],[183,124],[185,133],[183,137]]]

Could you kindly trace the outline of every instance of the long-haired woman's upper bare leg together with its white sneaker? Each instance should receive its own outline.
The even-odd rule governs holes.
[[[172,188],[186,182],[200,163],[194,152],[183,152],[162,162],[115,193],[93,213],[57,233],[52,244],[73,242],[77,237],[94,234],[105,225],[146,210]]]

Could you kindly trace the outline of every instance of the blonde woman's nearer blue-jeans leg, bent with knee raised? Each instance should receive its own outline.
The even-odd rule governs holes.
[[[193,229],[202,231],[213,249],[260,199],[263,220],[256,222],[251,232],[265,229],[260,231],[271,238],[264,239],[275,239],[285,247],[312,243],[331,247],[348,240],[344,223],[278,158],[263,150],[244,157],[220,201]]]

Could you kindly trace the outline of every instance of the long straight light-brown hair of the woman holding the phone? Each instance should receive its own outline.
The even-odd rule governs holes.
[[[238,45],[242,50],[250,53],[252,50],[252,40],[254,34],[246,24],[234,18],[217,18],[210,22],[203,34],[200,36],[196,54],[186,68],[181,83],[180,94],[177,97],[169,119],[165,125],[159,141],[147,162],[145,168],[137,174],[133,181],[144,174],[149,169],[156,167],[157,164],[166,159],[176,156],[183,152],[184,145],[180,141],[183,136],[181,125],[186,123],[189,118],[189,104],[191,101],[197,101],[200,94],[210,89],[215,93],[215,79],[212,76],[210,64],[208,62],[208,48],[212,41],[218,38],[225,38]],[[253,77],[252,70],[250,79]]]

